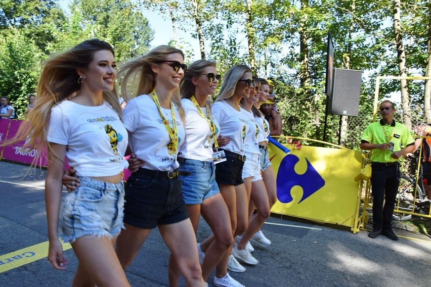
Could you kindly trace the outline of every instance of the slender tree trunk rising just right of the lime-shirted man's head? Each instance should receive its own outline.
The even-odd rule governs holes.
[[[398,59],[398,70],[400,76],[407,76],[406,73],[406,52],[404,50],[403,35],[401,33],[401,5],[400,0],[394,0],[394,32],[395,32],[395,43],[397,45],[397,59]],[[401,80],[401,102],[403,108],[403,121],[408,129],[411,130],[411,111],[410,111],[410,99],[409,99],[409,88],[407,80]]]

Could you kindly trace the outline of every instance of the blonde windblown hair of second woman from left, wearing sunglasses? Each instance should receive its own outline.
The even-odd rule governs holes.
[[[121,65],[118,69],[117,78],[121,82],[121,96],[124,100],[128,102],[128,100],[138,95],[151,93],[156,86],[156,74],[151,69],[151,66],[166,60],[168,55],[174,53],[180,54],[184,59],[183,51],[172,46],[160,45],[147,54]],[[184,123],[185,115],[181,106],[180,89],[174,91],[171,101],[177,107]]]

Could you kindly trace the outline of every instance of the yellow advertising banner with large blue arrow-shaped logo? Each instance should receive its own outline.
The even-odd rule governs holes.
[[[278,146],[278,145],[277,145]],[[271,212],[353,226],[358,216],[360,151],[270,143],[277,178]]]

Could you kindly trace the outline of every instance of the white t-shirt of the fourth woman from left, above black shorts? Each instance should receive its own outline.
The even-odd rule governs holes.
[[[220,134],[231,139],[223,149],[244,155],[244,141],[245,134],[248,131],[248,118],[240,111],[232,108],[225,100],[212,104],[212,116],[220,124]]]

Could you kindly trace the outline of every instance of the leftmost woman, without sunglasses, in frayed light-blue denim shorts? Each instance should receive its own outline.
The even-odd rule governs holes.
[[[113,248],[123,227],[121,173],[127,167],[127,131],[113,92],[115,67],[112,46],[98,39],[48,60],[38,83],[39,99],[14,139],[27,139],[30,149],[48,142],[48,260],[55,269],[66,269],[60,225],[61,237],[79,260],[73,286],[130,286]],[[62,197],[65,157],[80,186]]]

